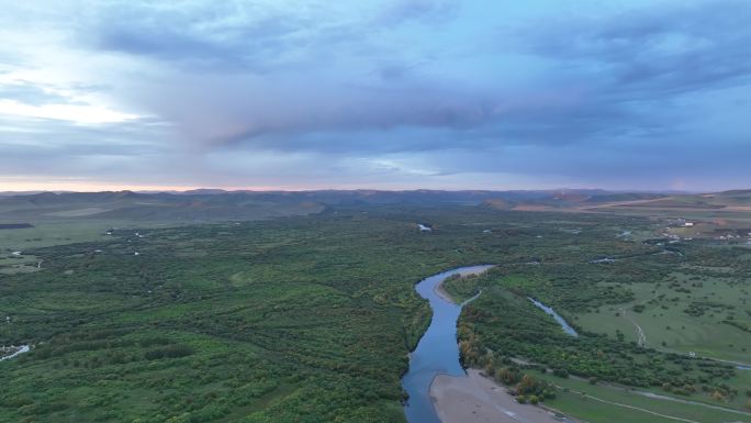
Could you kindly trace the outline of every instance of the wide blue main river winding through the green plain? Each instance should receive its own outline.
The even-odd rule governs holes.
[[[433,378],[438,375],[466,375],[459,364],[457,344],[457,320],[461,305],[444,299],[436,288],[450,276],[480,274],[491,267],[460,267],[426,278],[415,287],[417,293],[430,302],[433,320],[410,357],[410,370],[402,378],[402,385],[410,394],[404,407],[410,423],[440,423],[429,396]]]

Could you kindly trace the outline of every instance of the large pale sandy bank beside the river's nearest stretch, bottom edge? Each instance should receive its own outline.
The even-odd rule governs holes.
[[[560,423],[565,420],[534,405],[523,405],[506,389],[469,369],[467,377],[439,375],[430,398],[444,423]]]

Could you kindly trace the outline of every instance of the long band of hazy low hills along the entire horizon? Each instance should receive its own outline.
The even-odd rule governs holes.
[[[330,207],[461,204],[518,211],[720,210],[751,207],[751,190],[716,193],[613,192],[598,189],[519,191],[318,190],[183,192],[33,192],[0,197],[0,222],[59,219],[231,221],[320,213]]]

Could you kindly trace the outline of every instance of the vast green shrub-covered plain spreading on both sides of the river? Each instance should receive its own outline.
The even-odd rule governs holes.
[[[460,319],[467,365],[548,380],[560,388],[526,394],[592,423],[661,420],[567,388],[699,422],[749,420],[709,408],[742,410],[749,372],[705,358],[749,360],[751,251],[666,244],[662,220],[456,204],[176,227],[47,219],[0,231],[23,252],[7,260],[42,261],[0,275],[0,344],[32,345],[0,363],[0,421],[404,422],[400,376],[430,318],[414,283],[486,263],[497,267],[446,286],[457,299],[482,290]]]

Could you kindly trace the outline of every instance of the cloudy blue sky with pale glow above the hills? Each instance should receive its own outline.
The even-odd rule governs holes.
[[[748,0],[0,0],[0,191],[751,188]]]

